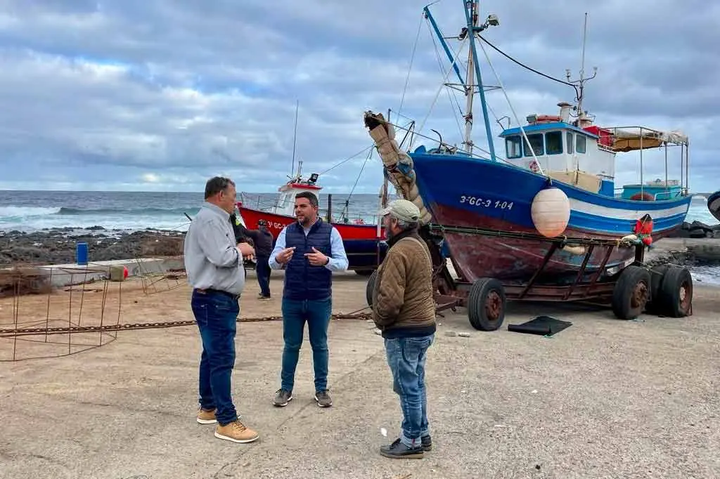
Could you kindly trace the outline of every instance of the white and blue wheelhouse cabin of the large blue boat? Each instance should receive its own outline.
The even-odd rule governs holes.
[[[528,116],[524,135],[519,127],[500,134],[505,138],[508,163],[535,172],[541,170],[553,179],[591,193],[614,196],[615,151],[611,132],[591,126],[590,120],[582,118],[579,123],[583,127],[576,127],[569,122],[570,104],[558,106],[559,115]]]

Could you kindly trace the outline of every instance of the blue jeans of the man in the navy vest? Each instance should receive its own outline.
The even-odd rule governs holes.
[[[294,301],[282,298],[282,373],[280,387],[292,391],[297,358],[300,357],[302,334],[307,321],[307,333],[312,347],[312,367],[315,370],[315,391],[328,388],[328,325],[333,311],[333,298]]]

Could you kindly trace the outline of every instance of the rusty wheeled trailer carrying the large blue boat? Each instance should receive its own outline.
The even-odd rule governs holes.
[[[443,232],[456,231],[472,234],[486,234],[497,237],[523,237],[550,243],[540,267],[527,282],[501,282],[496,278],[477,278],[472,283],[462,278],[453,278],[447,267],[446,257],[441,253]],[[467,309],[472,327],[481,331],[498,329],[505,319],[507,301],[573,301],[577,303],[610,306],[618,319],[635,319],[643,312],[658,316],[683,317],[692,314],[693,279],[687,268],[676,265],[656,265],[648,268],[644,264],[646,246],[623,244],[618,239],[595,239],[579,237],[543,237],[521,232],[503,232],[490,229],[451,227],[428,224],[421,227],[422,237],[431,251],[433,260],[433,286],[436,312],[458,306]],[[585,247],[585,256],[575,274],[575,280],[558,286],[541,282],[542,273],[552,257],[568,244]],[[618,265],[612,273],[606,264],[615,248],[634,247],[635,257],[629,264]],[[593,272],[588,271],[588,262],[593,252],[603,251],[603,260]],[[454,264],[452,257],[449,258]],[[615,268],[615,267],[613,267]],[[457,268],[456,268],[457,270]],[[572,273],[572,272],[571,272]],[[603,274],[605,273],[605,274]],[[590,274],[590,279],[583,277]],[[372,305],[372,289],[377,271],[366,286],[366,300]]]

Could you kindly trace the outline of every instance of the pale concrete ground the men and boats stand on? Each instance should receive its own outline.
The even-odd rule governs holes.
[[[138,283],[122,286],[121,323],[192,319],[186,286],[145,296]],[[110,310],[117,316],[119,284],[107,293],[106,321]],[[336,276],[334,310],[363,308],[364,284],[353,273]],[[282,291],[276,273],[271,288]],[[257,291],[250,273],[241,315],[279,314],[279,298],[263,303]],[[68,314],[96,321],[105,293],[84,293],[84,319],[73,316],[77,291],[69,294],[53,296],[53,325]],[[397,436],[401,413],[382,338],[364,320],[330,325],[330,409],[312,398],[307,339],[294,400],[272,406],[282,323],[238,324],[233,390],[243,421],[260,433],[251,444],[215,439],[212,425],[195,422],[200,342],[192,326],[125,331],[76,355],[0,362],[0,478],[719,477],[720,290],[696,284],[694,298],[693,316],[636,321],[581,306],[511,304],[495,332],[472,329],[463,309],[448,311],[429,352],[434,447],[423,460],[377,452]],[[47,303],[22,298],[21,327],[42,323]],[[0,329],[14,322],[12,311],[12,300],[0,301]],[[573,324],[552,338],[508,332],[536,314]],[[13,345],[19,356],[67,350],[0,339],[0,359]]]

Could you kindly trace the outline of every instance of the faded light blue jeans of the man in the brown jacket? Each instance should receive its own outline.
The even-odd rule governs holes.
[[[420,438],[430,434],[425,362],[435,334],[423,337],[385,339],[387,365],[392,372],[392,390],[400,396],[402,432],[400,441],[421,447]]]

